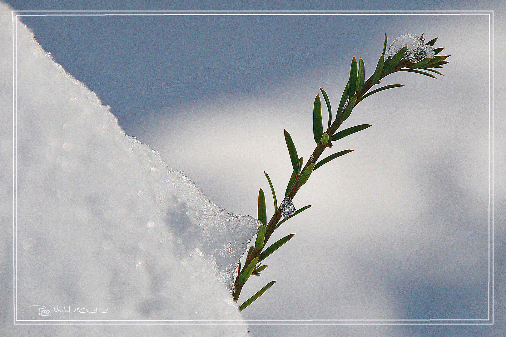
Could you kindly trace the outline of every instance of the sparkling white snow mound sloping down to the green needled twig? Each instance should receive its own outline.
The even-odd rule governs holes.
[[[0,10],[0,45],[10,51],[11,9],[0,3]],[[0,81],[6,88],[12,87],[11,60],[3,53]],[[11,106],[11,94],[2,94],[4,107]],[[5,111],[2,128],[9,135],[12,114]],[[6,158],[12,155],[9,147],[2,149]],[[9,185],[12,190],[11,165],[2,164],[6,190]],[[20,22],[17,177],[17,319],[244,323],[230,288],[237,260],[260,222],[220,209],[184,172],[125,135],[95,92],[54,62]],[[45,306],[51,316],[30,306]],[[54,311],[64,306],[70,311]],[[12,326],[12,316],[2,320],[9,335],[236,336],[247,329],[245,324],[40,329]]]

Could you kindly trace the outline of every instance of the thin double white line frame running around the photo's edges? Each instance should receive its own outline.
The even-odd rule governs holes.
[[[26,13],[26,14],[17,14]],[[44,14],[28,14],[44,13]],[[57,14],[61,13],[61,14]],[[64,14],[71,13],[71,14]],[[83,14],[91,13],[91,14]],[[103,13],[103,14],[94,14]],[[135,14],[138,13],[138,14]],[[488,319],[253,319],[235,320],[18,320],[17,317],[17,24],[23,16],[336,16],[336,15],[487,15],[488,16]],[[494,324],[494,11],[12,11],[13,56],[13,291],[14,324],[172,324],[172,325],[493,325]],[[60,321],[70,323],[58,323]],[[140,322],[139,322],[140,321]],[[220,323],[215,323],[219,321]],[[360,323],[367,321],[368,323]],[[471,322],[468,322],[471,321]],[[100,323],[93,323],[100,322]],[[110,323],[107,323],[110,322]],[[135,322],[135,323],[127,323]],[[141,323],[142,322],[142,323]],[[144,323],[150,322],[150,323]],[[262,323],[255,323],[262,322]],[[265,322],[265,323],[264,323]],[[269,322],[269,323],[268,323]],[[288,323],[293,322],[293,323]],[[295,323],[297,322],[297,323]],[[332,323],[331,323],[332,322]],[[369,323],[370,322],[370,323]],[[402,323],[396,323],[402,322]]]

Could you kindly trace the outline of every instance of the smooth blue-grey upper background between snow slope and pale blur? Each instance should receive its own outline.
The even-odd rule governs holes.
[[[69,4],[11,1],[17,10],[419,10],[451,3]],[[161,7],[161,8],[160,8]],[[464,6],[467,7],[467,6]],[[464,9],[459,7],[460,9]],[[467,8],[466,8],[467,9]],[[474,9],[474,8],[473,8]],[[56,62],[100,93],[129,133],[146,114],[259,88],[369,53],[405,17],[23,17]],[[364,24],[364,22],[367,22]],[[343,32],[347,34],[343,34]],[[361,36],[376,32],[376,41]],[[421,34],[422,32],[413,32]],[[400,33],[399,33],[400,34]],[[373,35],[374,36],[374,35]]]

